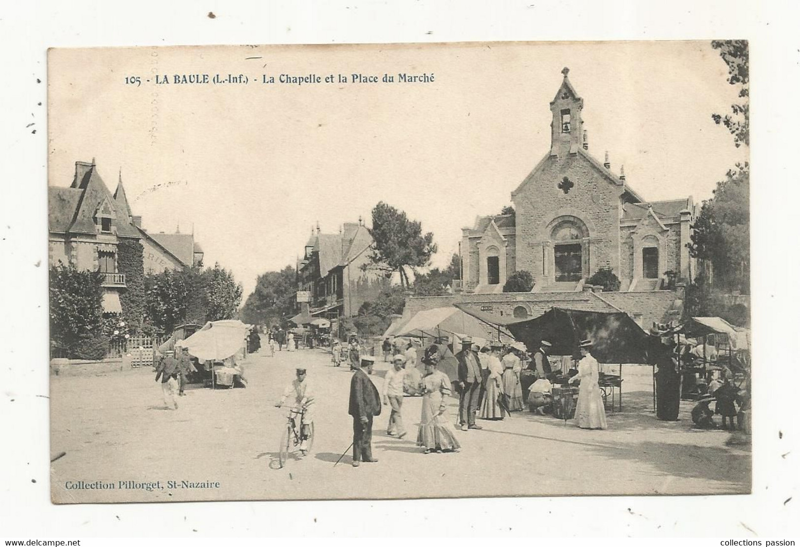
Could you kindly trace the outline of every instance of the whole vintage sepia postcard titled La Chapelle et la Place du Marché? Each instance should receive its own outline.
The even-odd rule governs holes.
[[[50,50],[52,500],[750,493],[748,74]]]

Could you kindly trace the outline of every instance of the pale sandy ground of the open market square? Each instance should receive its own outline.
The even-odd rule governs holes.
[[[374,421],[376,464],[354,468],[347,414],[350,372],[330,353],[262,347],[243,365],[246,389],[188,385],[179,409],[168,410],[152,369],[101,376],[51,377],[50,452],[53,499],[200,501],[602,494],[716,494],[750,491],[750,447],[726,446],[729,433],[691,429],[691,402],[681,419],[657,421],[651,369],[626,366],[622,412],[609,429],[583,430],[572,421],[514,413],[458,431],[460,453],[422,454],[415,445],[421,397],[406,397],[408,435],[386,435],[389,407]],[[378,357],[380,358],[380,357]],[[274,408],[294,368],[304,365],[316,392],[315,439],[306,457],[278,469],[286,411]],[[389,364],[378,361],[380,389]],[[615,367],[616,368],[616,367]],[[458,398],[450,398],[455,421]],[[162,488],[67,489],[67,482],[160,481]],[[219,488],[166,488],[167,481],[220,483]]]

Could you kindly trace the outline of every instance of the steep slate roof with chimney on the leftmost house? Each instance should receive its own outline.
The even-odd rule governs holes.
[[[129,238],[139,237],[138,231],[128,220],[128,215],[122,212],[118,202],[114,200],[94,164],[76,162],[72,186],[68,189],[50,187],[48,192],[50,194],[48,216],[54,220],[54,223],[50,225],[54,231],[96,234],[94,215],[98,207],[102,206],[104,202],[108,202],[116,217],[114,226],[117,227],[117,235]],[[76,195],[78,196],[77,200],[74,198]],[[66,230],[63,230],[66,217],[70,217],[70,224]],[[58,230],[56,226],[61,230]]]

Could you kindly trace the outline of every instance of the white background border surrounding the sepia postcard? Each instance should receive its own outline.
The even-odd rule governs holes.
[[[217,17],[208,18],[209,11]],[[794,450],[800,376],[794,344],[798,338],[794,218],[800,185],[794,161],[800,142],[797,22],[794,2],[735,0],[4,3],[0,7],[0,538],[794,536],[800,504],[796,464],[800,453]],[[712,38],[751,41],[756,371],[752,495],[50,505],[48,47]],[[708,465],[713,472],[714,465],[721,464]],[[598,472],[624,473],[624,469]],[[486,473],[491,473],[490,461]],[[793,499],[786,501],[789,498]]]

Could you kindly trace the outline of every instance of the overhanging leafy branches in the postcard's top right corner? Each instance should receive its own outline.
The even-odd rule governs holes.
[[[731,114],[722,116],[712,114],[714,123],[722,123],[734,136],[736,147],[750,146],[750,53],[746,40],[714,40],[711,47],[719,50],[722,60],[728,66],[728,82],[740,86],[739,98],[742,102],[730,107]]]

